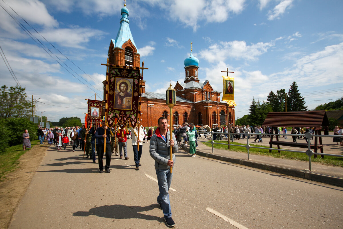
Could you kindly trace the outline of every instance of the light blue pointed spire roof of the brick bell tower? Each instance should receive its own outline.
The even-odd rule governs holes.
[[[131,34],[131,30],[129,26],[130,24],[129,19],[128,19],[129,10],[126,7],[123,7],[121,9],[121,15],[122,15],[122,18],[120,20],[120,28],[119,28],[117,37],[115,40],[111,39],[114,44],[114,47],[121,48],[121,46],[130,39],[134,47],[137,49],[137,53],[139,53],[138,48],[133,41],[133,36]]]

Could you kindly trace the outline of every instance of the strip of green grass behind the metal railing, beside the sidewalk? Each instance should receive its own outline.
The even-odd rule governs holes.
[[[220,143],[226,143],[227,144],[227,141],[214,141],[214,142],[220,142]],[[203,144],[205,144],[206,146],[212,147],[210,142],[203,142]],[[242,146],[246,145],[246,144],[242,144],[242,143],[238,143],[238,142],[235,142],[234,144],[235,145],[242,145]],[[254,145],[254,144],[250,144],[250,146],[269,148],[268,146],[261,146],[261,145]],[[245,147],[240,147],[240,146],[230,146],[230,149],[228,149],[227,145],[216,145],[216,144],[214,144],[213,148],[247,153],[247,149]],[[304,150],[306,150],[306,149],[304,149]],[[285,158],[285,159],[292,159],[292,160],[299,160],[299,161],[308,161],[308,156],[305,153],[298,153],[298,152],[280,151],[280,153],[279,153],[279,152],[277,152],[277,150],[272,150],[272,152],[269,152],[269,149],[250,148],[249,153],[257,154],[257,155],[270,156],[270,157],[274,157],[274,158]],[[320,155],[318,155],[318,158],[314,158],[314,155],[312,155],[311,161],[319,162],[321,164],[326,164],[326,165],[334,165],[334,166],[343,167],[343,158],[341,158],[341,157],[324,156],[324,158],[321,159]]]

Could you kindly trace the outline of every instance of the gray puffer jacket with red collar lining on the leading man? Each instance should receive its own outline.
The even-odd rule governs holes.
[[[170,132],[167,132],[167,142],[161,137],[159,132],[159,127],[156,128],[153,135],[150,139],[150,156],[155,160],[155,168],[156,169],[169,169],[170,166],[167,165],[168,160],[170,159],[169,151],[169,140],[170,139]],[[173,161],[175,163],[175,152],[178,150],[178,146],[176,143],[175,135],[173,134],[173,140],[175,145],[173,146]]]

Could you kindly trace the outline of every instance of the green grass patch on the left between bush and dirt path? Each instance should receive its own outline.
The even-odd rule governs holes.
[[[37,143],[39,143],[39,140],[31,141],[31,148],[26,148],[26,151],[23,150],[23,144],[20,144],[8,147],[0,154],[0,182],[5,179],[5,175],[18,167],[20,156],[27,152],[27,150],[32,149]]]

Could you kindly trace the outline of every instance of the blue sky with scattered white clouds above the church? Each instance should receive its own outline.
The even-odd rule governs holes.
[[[95,93],[103,99],[101,64],[117,36],[124,1],[0,4],[1,85],[19,82],[28,100],[40,98],[36,115],[43,112],[48,121],[77,116],[83,122],[85,99]],[[236,119],[249,113],[253,98],[287,92],[293,81],[310,110],[343,96],[343,1],[127,0],[126,7],[141,62],[149,68],[146,91],[165,93],[170,80],[184,82],[192,42],[201,82],[222,92],[221,71],[234,71]]]

